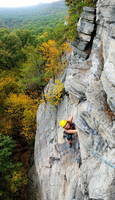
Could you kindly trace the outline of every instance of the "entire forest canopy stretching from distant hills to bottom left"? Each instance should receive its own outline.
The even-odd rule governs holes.
[[[43,88],[50,78],[63,72],[66,61],[62,57],[70,51],[63,2],[28,9],[0,9],[2,200],[28,199],[36,111]]]

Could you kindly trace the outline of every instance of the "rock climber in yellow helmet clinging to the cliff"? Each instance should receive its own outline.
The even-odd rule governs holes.
[[[64,128],[63,137],[67,139],[70,148],[72,147],[73,134],[77,133],[75,123],[73,123],[73,117],[68,120],[61,120],[60,126]]]

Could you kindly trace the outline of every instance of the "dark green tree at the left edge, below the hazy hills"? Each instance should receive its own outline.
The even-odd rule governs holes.
[[[11,69],[19,66],[25,60],[25,55],[22,51],[22,42],[15,32],[4,30],[2,35],[0,32],[0,68]]]

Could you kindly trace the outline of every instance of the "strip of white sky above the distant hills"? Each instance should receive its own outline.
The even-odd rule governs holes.
[[[0,0],[0,7],[24,7],[39,3],[51,3],[58,0]]]

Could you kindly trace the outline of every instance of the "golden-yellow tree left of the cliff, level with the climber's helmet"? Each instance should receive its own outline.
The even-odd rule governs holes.
[[[12,121],[12,128],[7,132],[19,132],[29,142],[35,133],[37,104],[25,94],[10,94],[7,99],[7,114]]]

